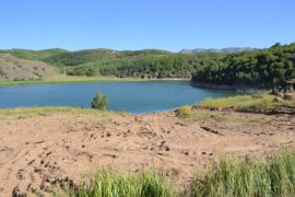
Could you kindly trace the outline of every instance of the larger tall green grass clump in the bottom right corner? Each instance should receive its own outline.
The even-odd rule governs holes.
[[[189,196],[295,196],[295,153],[281,151],[264,160],[222,160],[196,175]]]

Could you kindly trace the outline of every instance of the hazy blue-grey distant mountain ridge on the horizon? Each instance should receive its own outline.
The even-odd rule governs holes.
[[[259,48],[250,47],[228,47],[228,48],[194,48],[194,49],[182,49],[180,54],[196,54],[196,53],[240,53],[246,50],[258,50]]]

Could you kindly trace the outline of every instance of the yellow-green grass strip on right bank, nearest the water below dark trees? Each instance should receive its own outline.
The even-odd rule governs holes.
[[[222,99],[205,99],[198,106],[204,108],[235,108],[235,109],[271,109],[278,106],[295,106],[293,101],[274,102],[274,95],[237,95]]]

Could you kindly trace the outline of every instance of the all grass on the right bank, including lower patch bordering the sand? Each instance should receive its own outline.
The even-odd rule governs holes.
[[[295,108],[295,101],[276,102],[274,95],[261,93],[257,95],[237,95],[221,99],[204,99],[194,106],[181,106],[176,111],[178,117],[194,118],[201,120],[214,119],[216,121],[244,121],[231,111],[249,112],[249,113],[270,113],[280,107],[286,107],[292,111]],[[213,109],[213,111],[212,111]],[[221,112],[217,112],[217,111]],[[227,109],[228,113],[223,113]],[[252,119],[259,121],[259,119]]]

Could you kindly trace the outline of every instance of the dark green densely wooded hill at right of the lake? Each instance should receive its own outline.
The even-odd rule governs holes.
[[[253,51],[229,54],[204,67],[192,77],[194,82],[212,84],[271,86],[295,79],[295,43]]]

